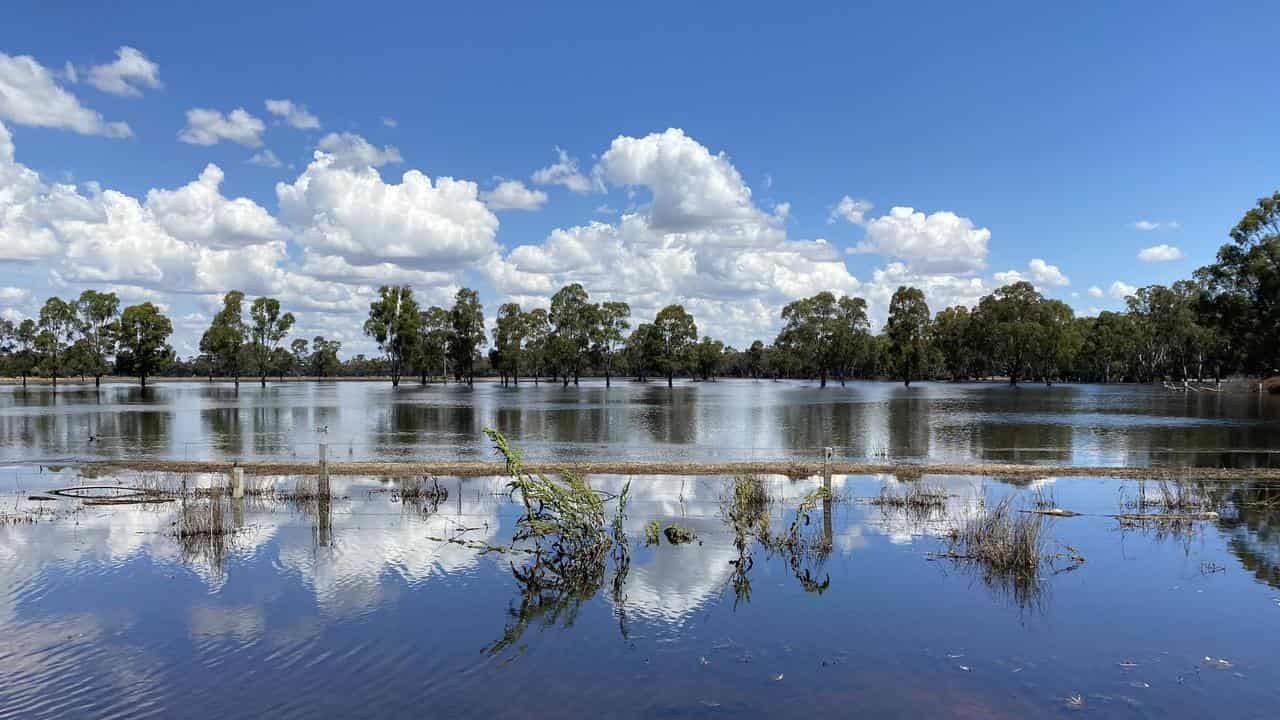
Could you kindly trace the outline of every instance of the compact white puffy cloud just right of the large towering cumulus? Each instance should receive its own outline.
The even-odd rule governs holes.
[[[955,213],[893,208],[867,222],[867,237],[854,251],[897,258],[918,272],[968,273],[986,266],[989,240],[989,229]]]

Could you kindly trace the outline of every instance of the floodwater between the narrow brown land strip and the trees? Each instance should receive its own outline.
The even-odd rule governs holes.
[[[500,387],[160,383],[0,387],[0,462],[102,457],[818,459],[1280,466],[1280,397],[1151,386],[769,380]]]

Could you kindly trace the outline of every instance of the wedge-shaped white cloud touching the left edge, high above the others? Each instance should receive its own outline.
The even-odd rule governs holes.
[[[59,128],[81,135],[131,137],[122,122],[106,122],[58,85],[54,73],[29,55],[0,53],[0,120],[20,126]]]

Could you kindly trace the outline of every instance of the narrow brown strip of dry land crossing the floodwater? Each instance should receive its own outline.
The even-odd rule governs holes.
[[[320,465],[306,461],[248,461],[239,462],[250,475],[315,475]],[[134,470],[151,473],[227,473],[233,462],[228,460],[108,460],[83,465],[87,474],[93,471]],[[893,462],[832,462],[836,475],[983,475],[997,478],[1048,478],[1098,477],[1132,479],[1176,480],[1274,480],[1280,482],[1280,468],[1108,468],[1088,465],[1021,465],[1004,462],[945,462],[945,464],[893,464]],[[788,475],[806,478],[822,475],[822,462],[750,461],[750,462],[663,462],[663,461],[590,461],[590,462],[526,462],[531,473],[559,474],[573,471],[580,475]],[[330,475],[451,475],[481,477],[502,475],[502,462],[460,461],[358,461],[329,462]]]

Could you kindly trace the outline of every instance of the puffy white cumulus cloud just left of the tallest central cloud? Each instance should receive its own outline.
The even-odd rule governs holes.
[[[387,183],[375,167],[385,160],[385,150],[370,150],[360,136],[321,141],[296,181],[276,183],[280,214],[298,243],[353,264],[445,269],[497,251],[498,218],[480,200],[476,183],[451,177],[433,182],[419,170]]]

